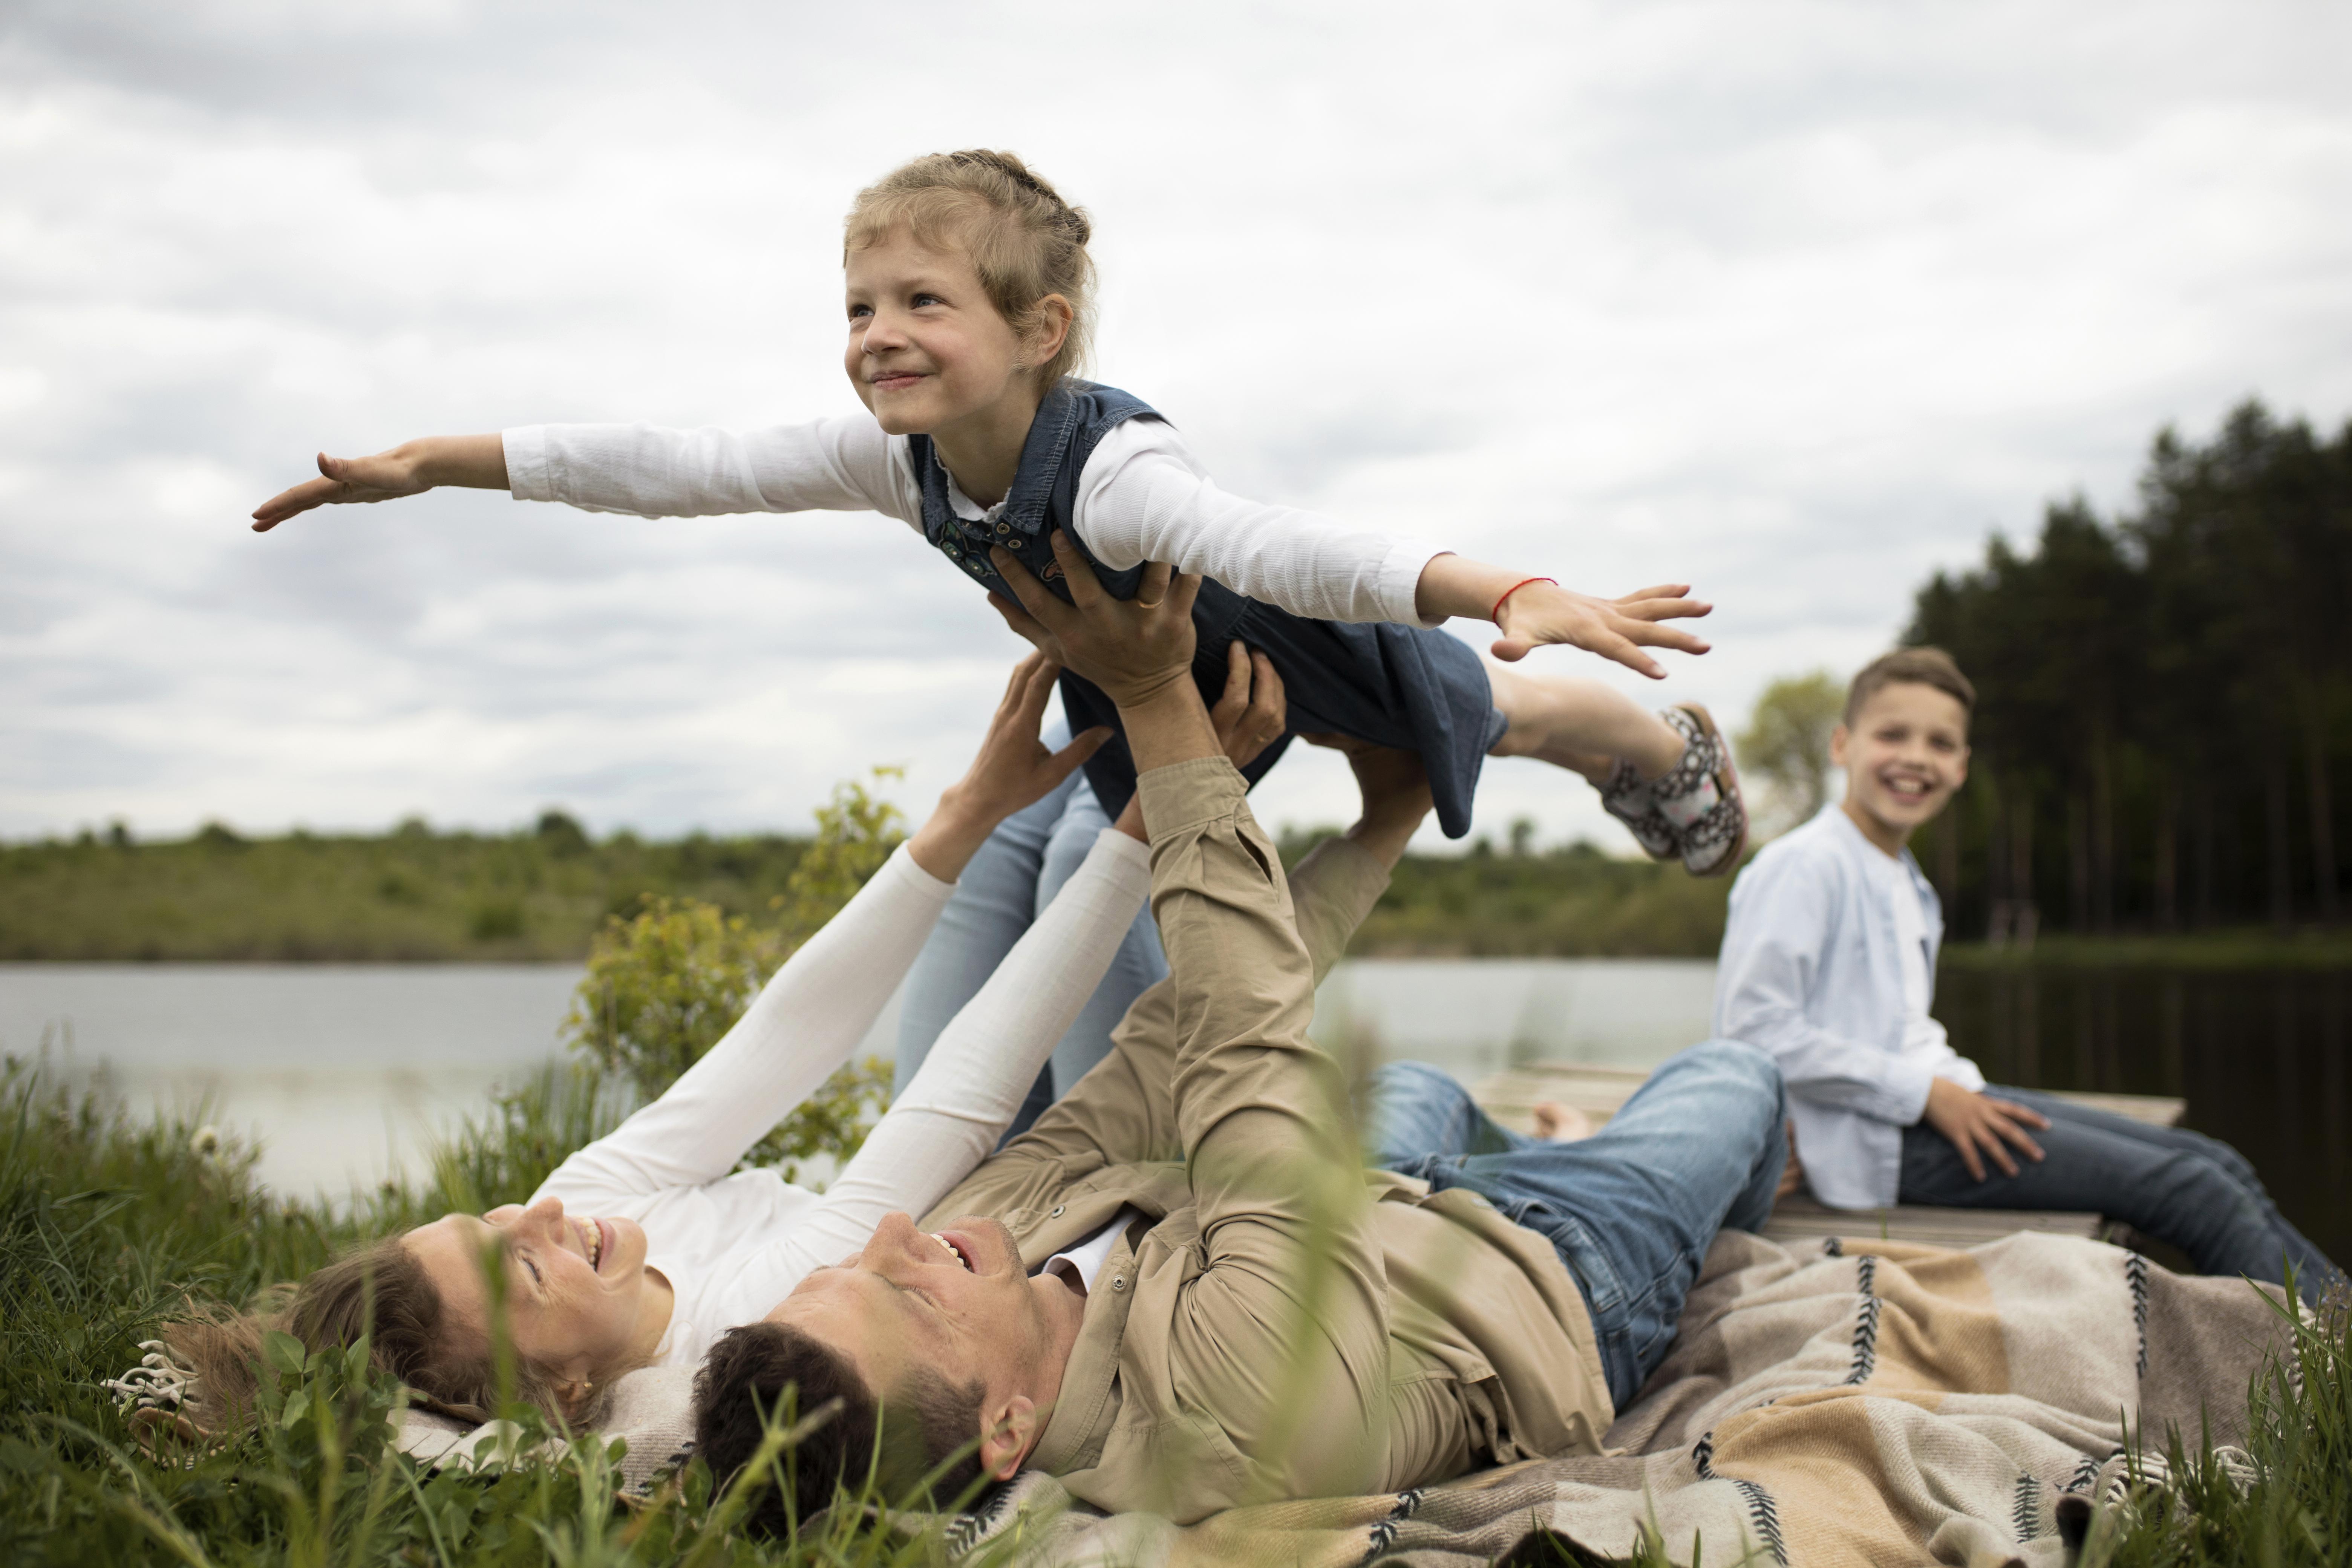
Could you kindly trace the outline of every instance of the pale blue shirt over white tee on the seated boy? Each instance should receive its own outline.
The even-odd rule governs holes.
[[[1907,905],[1907,907],[1905,907]],[[1929,1018],[1943,910],[1905,849],[1889,856],[1830,804],[1731,884],[1715,1034],[1780,1063],[1797,1157],[1832,1208],[1884,1208],[1903,1128],[1936,1079],[1983,1088]]]

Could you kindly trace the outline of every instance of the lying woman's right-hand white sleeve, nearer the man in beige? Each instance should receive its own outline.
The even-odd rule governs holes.
[[[823,1201],[734,1265],[724,1286],[729,1321],[764,1316],[809,1269],[866,1246],[882,1215],[920,1215],[971,1175],[1101,985],[1150,889],[1150,849],[1105,827],[981,994],[948,1023]]]

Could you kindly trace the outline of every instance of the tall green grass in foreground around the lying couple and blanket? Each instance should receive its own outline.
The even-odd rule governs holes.
[[[280,1199],[249,1150],[202,1138],[198,1117],[127,1117],[103,1093],[0,1070],[0,1563],[927,1563],[936,1537],[861,1530],[861,1509],[793,1542],[736,1528],[689,1467],[652,1507],[619,1500],[612,1455],[574,1443],[557,1462],[489,1476],[430,1474],[388,1446],[400,1392],[355,1359],[273,1347],[263,1420],[205,1453],[141,1453],[103,1378],[188,1293],[247,1300],[362,1234],[445,1208],[524,1197],[621,1103],[576,1067],[506,1095],[454,1138],[428,1180],[343,1206]],[[2347,1307],[2296,1326],[2284,1363],[2251,1389],[2251,1467],[2161,1455],[2173,1483],[2136,1488],[2093,1523],[2091,1568],[2343,1563],[2352,1559],[2352,1356]],[[524,1418],[529,1420],[529,1418]],[[783,1432],[776,1441],[788,1441]],[[1571,1561],[1529,1542],[1512,1561]],[[1644,1561],[1668,1561],[1651,1542]]]

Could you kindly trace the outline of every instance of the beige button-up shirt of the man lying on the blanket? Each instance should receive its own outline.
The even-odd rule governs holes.
[[[1364,1171],[1315,983],[1388,886],[1348,839],[1287,882],[1221,757],[1138,780],[1169,978],[1112,1053],[924,1218],[1023,1255],[1143,1218],[1087,1298],[1030,1462],[1110,1512],[1399,1490],[1592,1453],[1609,1385],[1552,1244]],[[1296,907],[1294,907],[1296,898]]]

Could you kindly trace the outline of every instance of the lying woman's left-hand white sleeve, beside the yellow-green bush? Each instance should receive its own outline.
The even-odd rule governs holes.
[[[734,1171],[762,1133],[849,1060],[953,891],[953,882],[924,872],[901,844],[858,896],[786,959],[703,1060],[560,1164],[541,1192],[593,1213]]]

